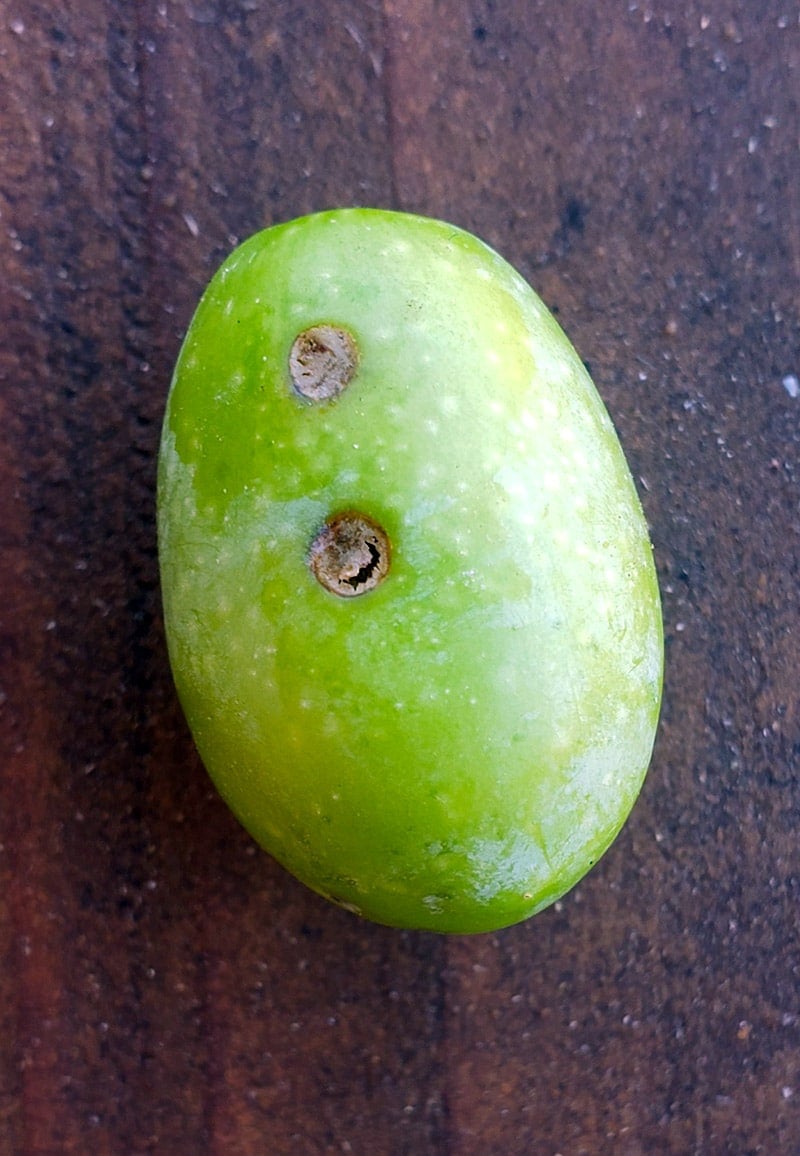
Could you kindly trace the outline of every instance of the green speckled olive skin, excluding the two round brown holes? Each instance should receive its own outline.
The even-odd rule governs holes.
[[[325,323],[360,363],[316,405],[288,360]],[[348,509],[393,556],[339,599],[306,555]],[[488,931],[612,843],[658,721],[651,546],[582,361],[481,242],[346,209],[236,250],[176,368],[158,536],[203,762],[310,887],[380,922]]]

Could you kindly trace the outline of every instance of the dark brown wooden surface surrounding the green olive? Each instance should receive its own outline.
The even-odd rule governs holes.
[[[0,1156],[800,1151],[799,98],[793,0],[0,6]],[[165,658],[182,334],[237,239],[354,203],[557,309],[652,526],[646,786],[497,935],[257,852]]]

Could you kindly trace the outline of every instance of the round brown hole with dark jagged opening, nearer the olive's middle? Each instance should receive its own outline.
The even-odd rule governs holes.
[[[328,518],[309,550],[311,573],[340,598],[375,590],[388,573],[390,561],[386,531],[353,510]]]

